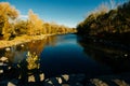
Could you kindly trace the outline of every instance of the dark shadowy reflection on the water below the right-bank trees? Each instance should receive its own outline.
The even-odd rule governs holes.
[[[130,72],[130,47],[117,42],[102,39],[82,39],[77,42],[83,47],[83,52],[102,66],[112,69],[112,72]]]

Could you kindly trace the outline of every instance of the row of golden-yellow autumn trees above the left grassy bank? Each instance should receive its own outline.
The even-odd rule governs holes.
[[[32,10],[29,10],[26,20],[21,19],[20,15],[20,12],[9,2],[0,2],[0,39],[9,40],[11,37],[22,34],[36,35],[76,32],[75,28],[43,22]]]

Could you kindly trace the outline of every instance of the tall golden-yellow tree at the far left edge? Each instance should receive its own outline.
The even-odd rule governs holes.
[[[13,33],[14,28],[10,20],[15,19],[17,16],[18,11],[14,6],[11,6],[8,2],[0,2],[0,34],[9,38]]]

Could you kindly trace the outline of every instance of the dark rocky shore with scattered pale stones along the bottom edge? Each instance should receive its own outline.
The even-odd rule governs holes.
[[[86,80],[86,74],[63,74],[55,77],[44,78],[42,74],[39,82],[31,75],[28,83],[18,80],[1,81],[0,85],[8,86],[130,86],[130,73],[100,75]]]

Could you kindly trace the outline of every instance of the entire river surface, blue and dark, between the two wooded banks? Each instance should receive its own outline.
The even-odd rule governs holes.
[[[28,74],[40,73],[44,73],[48,78],[60,74],[83,73],[92,77],[129,72],[129,49],[120,46],[103,41],[81,40],[76,34],[64,34],[12,46],[10,51],[2,48],[0,57],[6,57],[8,61],[0,61],[0,80],[26,82]],[[35,62],[27,60],[31,56],[37,57]]]

